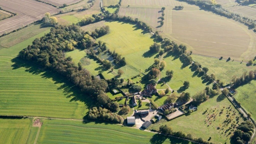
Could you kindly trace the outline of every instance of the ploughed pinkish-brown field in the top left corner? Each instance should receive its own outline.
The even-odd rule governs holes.
[[[53,6],[34,0],[0,0],[3,9],[16,13],[16,16],[0,21],[0,35],[33,23],[46,12],[56,14],[59,10]]]

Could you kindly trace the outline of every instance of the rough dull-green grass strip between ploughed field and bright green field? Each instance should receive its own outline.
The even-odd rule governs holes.
[[[34,37],[40,33],[49,30],[51,27],[42,27],[40,23],[36,23],[34,25],[29,25],[26,28],[19,30],[18,32],[8,34],[7,36],[0,38],[0,49],[9,48],[18,43],[23,42],[31,37]]]

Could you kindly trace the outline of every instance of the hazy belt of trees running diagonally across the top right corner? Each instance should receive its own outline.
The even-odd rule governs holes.
[[[227,18],[232,18],[236,21],[239,21],[241,23],[244,23],[248,26],[250,26],[251,28],[255,28],[256,27],[256,20],[243,16],[240,13],[234,13],[232,11],[230,11],[229,9],[221,6],[220,4],[217,4],[214,1],[210,1],[210,0],[184,0],[190,4],[195,4],[197,6],[199,6],[200,8],[205,8],[208,9],[212,12],[215,12],[219,15],[225,16]]]

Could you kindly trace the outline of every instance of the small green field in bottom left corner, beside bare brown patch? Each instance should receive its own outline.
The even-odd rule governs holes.
[[[0,119],[1,143],[26,143],[32,119]],[[34,142],[33,142],[34,143]]]

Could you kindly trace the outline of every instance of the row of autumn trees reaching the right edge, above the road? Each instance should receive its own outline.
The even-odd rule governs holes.
[[[232,78],[232,82],[233,82],[233,87],[238,87],[252,79],[255,78],[255,74],[256,74],[256,71],[249,71],[249,73],[247,72],[244,72],[242,76],[240,77],[236,77],[236,76],[233,76]]]

